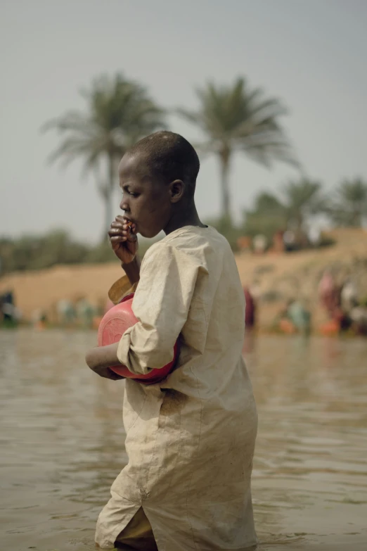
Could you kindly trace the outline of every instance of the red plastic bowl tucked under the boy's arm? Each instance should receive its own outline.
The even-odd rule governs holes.
[[[131,304],[134,298],[134,293],[125,297],[119,304],[113,306],[101,319],[101,323],[98,327],[98,346],[106,346],[108,344],[117,343],[124,332],[135,325],[139,320],[134,316],[134,312],[131,309]],[[165,365],[161,369],[153,369],[146,375],[136,375],[131,373],[129,369],[124,365],[113,365],[110,367],[112,371],[127,377],[128,379],[134,379],[143,384],[155,384],[162,379],[165,379],[169,372],[172,371],[177,358],[177,343],[174,345],[174,357],[172,362]]]

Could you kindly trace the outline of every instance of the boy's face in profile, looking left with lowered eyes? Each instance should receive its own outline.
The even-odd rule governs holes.
[[[136,226],[136,233],[155,237],[172,215],[172,193],[169,185],[154,179],[144,160],[136,154],[125,155],[119,165],[124,217]]]

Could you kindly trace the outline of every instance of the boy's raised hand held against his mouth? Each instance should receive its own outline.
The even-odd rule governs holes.
[[[138,238],[135,224],[127,222],[122,216],[117,216],[108,232],[112,249],[123,264],[129,264],[138,252]]]

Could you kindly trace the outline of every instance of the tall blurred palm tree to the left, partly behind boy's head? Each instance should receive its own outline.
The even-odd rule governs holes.
[[[91,88],[81,92],[84,112],[71,110],[46,122],[43,130],[56,129],[62,141],[49,157],[66,167],[84,159],[84,173],[93,171],[105,205],[103,239],[112,219],[112,196],[117,165],[129,146],[162,127],[163,112],[140,84],[123,75],[96,78]],[[101,179],[101,168],[107,175]]]

